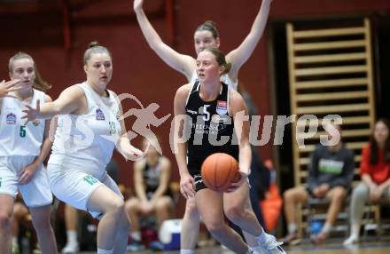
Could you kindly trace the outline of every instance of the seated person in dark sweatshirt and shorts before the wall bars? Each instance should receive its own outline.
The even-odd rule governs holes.
[[[340,131],[339,125],[331,125],[334,131]],[[328,132],[328,139],[335,136]],[[320,232],[312,238],[313,242],[323,242],[334,225],[339,210],[342,207],[347,191],[354,177],[354,153],[339,142],[333,146],[318,145],[310,158],[308,166],[308,186],[293,187],[285,191],[285,218],[288,234],[282,241],[291,243],[297,240],[297,225],[295,222],[298,203],[308,202],[310,196],[327,198],[330,201],[327,218]]]

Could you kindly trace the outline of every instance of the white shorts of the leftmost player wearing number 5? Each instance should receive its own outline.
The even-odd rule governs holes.
[[[35,160],[35,156],[0,156],[0,194],[10,194],[16,198],[18,190],[30,208],[51,204],[53,196],[49,186],[47,171],[41,164],[34,177],[25,185],[18,181],[20,173]]]

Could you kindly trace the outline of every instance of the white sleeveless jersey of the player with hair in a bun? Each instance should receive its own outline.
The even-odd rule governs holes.
[[[112,91],[102,97],[86,82],[75,84],[87,99],[85,114],[58,116],[49,163],[79,165],[81,171],[104,171],[121,136],[119,104]]]

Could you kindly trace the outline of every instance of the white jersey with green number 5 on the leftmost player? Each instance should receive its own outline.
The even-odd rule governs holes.
[[[28,102],[4,97],[0,108],[0,156],[37,156],[41,152],[45,120],[36,119],[25,124],[21,119],[26,105],[36,107],[36,100],[45,102],[45,93],[33,89]]]

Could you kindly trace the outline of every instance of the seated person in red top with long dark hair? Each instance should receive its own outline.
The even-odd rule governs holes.
[[[354,188],[350,203],[351,234],[343,243],[353,244],[359,240],[364,205],[375,203],[381,198],[390,199],[390,122],[379,119],[370,138],[363,147],[360,174],[362,183]]]

